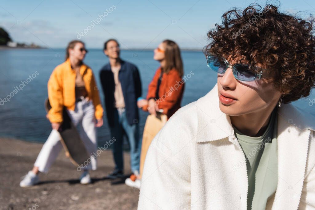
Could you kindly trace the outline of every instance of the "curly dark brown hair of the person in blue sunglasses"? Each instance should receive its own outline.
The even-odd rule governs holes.
[[[312,17],[312,15],[311,15]],[[315,87],[314,19],[303,20],[267,4],[222,15],[222,25],[208,32],[205,54],[230,56],[251,65],[275,69],[273,84],[284,94],[283,103],[307,97]]]

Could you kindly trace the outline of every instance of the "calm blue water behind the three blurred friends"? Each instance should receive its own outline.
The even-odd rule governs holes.
[[[64,49],[0,50],[0,137],[14,137],[38,142],[44,142],[47,139],[51,131],[44,109],[47,82],[54,67],[64,61],[64,56]],[[152,59],[153,52],[123,50],[121,57],[138,66],[142,80],[142,97],[145,97],[147,86],[159,66],[159,63]],[[216,73],[209,71],[202,52],[184,51],[182,58],[184,74],[187,75],[190,71],[194,73],[186,81],[182,100],[182,105],[186,105],[213,88],[216,83]],[[84,61],[93,69],[97,84],[100,85],[98,75],[100,68],[108,62],[107,57],[102,50],[92,49],[89,50]],[[21,81],[23,85],[21,85]],[[23,90],[11,94],[10,101],[3,104],[1,99],[7,97],[19,85],[24,86]],[[314,92],[313,90],[307,99],[300,99],[294,104],[315,115]],[[103,103],[102,91],[100,91],[100,96]],[[146,116],[146,112],[140,111],[141,136]],[[104,122],[104,126],[98,128],[99,145],[103,145],[106,140],[111,139],[105,118]]]

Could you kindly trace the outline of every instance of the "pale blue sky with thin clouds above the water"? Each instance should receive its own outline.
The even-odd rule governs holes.
[[[232,7],[244,8],[248,0],[0,0],[0,26],[17,42],[36,43],[49,48],[65,48],[80,39],[87,48],[102,48],[108,38],[116,38],[122,48],[155,48],[172,39],[181,48],[202,48],[207,31],[221,22]],[[266,1],[255,1],[265,5]],[[273,1],[274,2],[274,1]],[[282,0],[280,10],[306,17],[315,14],[312,0]],[[105,15],[104,15],[105,13]],[[99,15],[103,15],[97,19]],[[98,24],[93,21],[99,20]],[[95,27],[89,28],[88,26]]]

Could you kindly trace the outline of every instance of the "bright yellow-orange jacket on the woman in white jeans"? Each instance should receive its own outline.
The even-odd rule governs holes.
[[[91,68],[85,64],[80,67],[80,74],[85,83],[85,89],[89,99],[92,99],[95,107],[95,118],[103,117],[103,108],[100,103],[98,87]],[[67,59],[58,65],[51,74],[48,81],[48,98],[51,109],[48,118],[51,123],[62,122],[62,109],[66,106],[68,110],[75,108],[75,79],[76,72],[71,68],[70,60]]]

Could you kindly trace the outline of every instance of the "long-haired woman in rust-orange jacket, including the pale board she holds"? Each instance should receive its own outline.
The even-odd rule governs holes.
[[[183,63],[178,45],[174,41],[164,40],[154,50],[153,59],[160,62],[160,67],[149,84],[146,99],[138,100],[138,107],[151,114],[143,132],[140,174],[132,174],[125,181],[128,186],[136,188],[140,188],[144,160],[152,139],[166,120],[180,108],[184,93]]]

